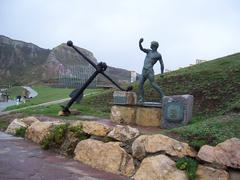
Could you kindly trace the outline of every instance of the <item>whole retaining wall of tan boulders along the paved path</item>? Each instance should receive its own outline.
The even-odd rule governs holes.
[[[65,124],[63,121],[41,122],[32,119],[14,120],[8,129],[15,128],[11,132],[16,132],[18,125],[24,124],[27,127],[25,137],[41,144],[44,137],[51,134],[53,127]],[[74,159],[135,180],[187,180],[186,172],[176,168],[176,160],[181,157],[192,157],[200,162],[196,172],[196,179],[199,180],[227,180],[228,168],[240,169],[240,139],[237,138],[216,147],[203,146],[196,152],[187,143],[161,134],[141,135],[138,129],[130,126],[117,125],[112,128],[97,121],[73,121],[67,127],[67,132],[70,128],[81,127],[80,130],[89,137],[82,140],[74,136],[74,144],[71,146]],[[68,136],[66,133],[64,140]]]

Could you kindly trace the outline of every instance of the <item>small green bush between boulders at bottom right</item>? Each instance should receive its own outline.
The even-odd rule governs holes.
[[[176,167],[185,170],[189,180],[194,180],[198,167],[198,162],[189,157],[183,157],[177,160]]]

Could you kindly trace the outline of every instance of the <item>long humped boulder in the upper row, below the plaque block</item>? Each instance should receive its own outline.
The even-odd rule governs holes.
[[[187,143],[179,142],[161,134],[138,137],[133,142],[132,152],[133,157],[139,160],[143,159],[147,153],[157,152],[164,152],[174,157],[196,156],[196,152]]]

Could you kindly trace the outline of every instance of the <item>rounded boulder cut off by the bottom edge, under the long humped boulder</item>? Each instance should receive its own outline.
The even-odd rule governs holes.
[[[187,180],[184,171],[176,168],[175,162],[165,155],[143,159],[134,180]]]

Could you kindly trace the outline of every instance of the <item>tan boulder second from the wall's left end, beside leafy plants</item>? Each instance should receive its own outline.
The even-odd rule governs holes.
[[[40,144],[43,139],[49,135],[51,128],[60,124],[63,123],[59,121],[36,121],[27,128],[25,137],[35,143]]]

